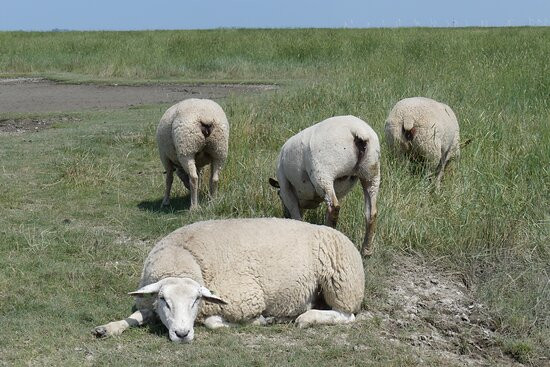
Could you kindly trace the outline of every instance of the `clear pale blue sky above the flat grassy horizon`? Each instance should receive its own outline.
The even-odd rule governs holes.
[[[550,26],[550,0],[0,0],[0,30]]]

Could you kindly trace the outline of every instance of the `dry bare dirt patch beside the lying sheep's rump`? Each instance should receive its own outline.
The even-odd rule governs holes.
[[[459,279],[409,257],[396,257],[392,269],[381,309],[358,316],[380,322],[381,338],[450,364],[519,365],[502,353],[485,307]]]

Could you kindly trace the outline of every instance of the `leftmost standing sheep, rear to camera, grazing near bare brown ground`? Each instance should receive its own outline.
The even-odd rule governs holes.
[[[220,105],[209,99],[186,99],[170,107],[157,127],[160,160],[166,170],[162,206],[170,204],[174,171],[191,194],[190,209],[198,207],[201,168],[210,167],[210,195],[218,188],[227,158],[229,122]]]

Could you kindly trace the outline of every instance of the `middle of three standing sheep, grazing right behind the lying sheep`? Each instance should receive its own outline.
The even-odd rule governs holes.
[[[376,199],[380,187],[380,143],[376,132],[355,116],[336,116],[300,131],[281,148],[277,180],[285,217],[302,219],[303,209],[327,203],[325,224],[336,227],[340,200],[357,180],[365,200],[363,256],[374,252]]]

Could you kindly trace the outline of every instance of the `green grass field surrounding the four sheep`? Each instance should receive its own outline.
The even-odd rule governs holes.
[[[197,328],[192,345],[170,343],[160,327],[91,337],[92,327],[127,316],[126,292],[170,231],[203,219],[281,216],[267,184],[280,146],[339,114],[368,121],[382,140],[365,308],[384,296],[392,256],[420,257],[457,274],[487,306],[504,354],[549,363],[550,28],[10,32],[0,33],[0,50],[0,76],[281,85],[219,101],[230,155],[220,195],[202,197],[192,213],[179,182],[171,209],[159,210],[155,128],[166,105],[64,114],[79,122],[49,114],[59,120],[50,129],[0,135],[0,364],[445,364],[387,345],[376,322]],[[472,139],[437,194],[425,172],[384,144],[390,108],[416,95],[449,104]],[[338,226],[355,243],[364,228],[360,191],[343,201]],[[318,210],[306,219],[322,217]]]

